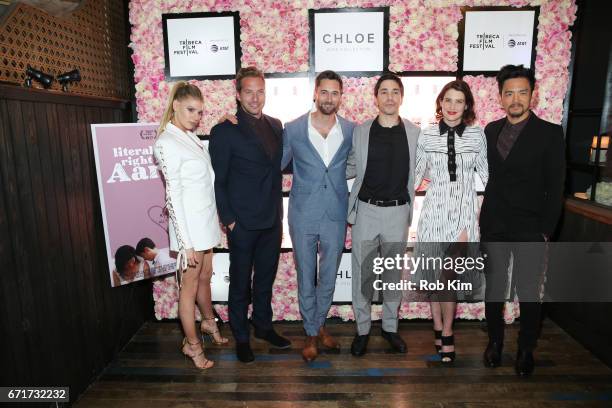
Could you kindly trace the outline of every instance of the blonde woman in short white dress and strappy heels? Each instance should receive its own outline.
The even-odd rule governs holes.
[[[210,280],[212,248],[221,240],[215,204],[214,172],[208,150],[193,133],[202,118],[199,88],[178,82],[161,121],[154,154],[166,185],[170,249],[178,253],[179,317],[185,333],[182,352],[200,369],[214,363],[204,355],[195,328],[195,304],[202,315],[200,331],[217,344],[227,343],[214,318]]]

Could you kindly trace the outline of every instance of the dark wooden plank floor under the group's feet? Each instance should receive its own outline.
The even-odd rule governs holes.
[[[508,326],[503,366],[482,366],[487,336],[478,322],[457,322],[458,358],[442,366],[434,355],[428,322],[401,322],[407,354],[393,354],[372,328],[369,352],[350,355],[353,323],[331,321],[342,343],[339,354],[302,361],[299,322],[276,324],[293,341],[290,350],[269,350],[253,340],[256,361],[236,360],[233,345],[208,346],[216,364],[200,372],[179,353],[175,322],[145,324],[79,407],[612,407],[612,370],[569,335],[546,321],[529,379],[513,371],[517,325]],[[229,335],[229,328],[223,327]]]

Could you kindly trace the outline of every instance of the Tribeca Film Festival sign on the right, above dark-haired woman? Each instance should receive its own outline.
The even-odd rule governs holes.
[[[498,71],[506,64],[531,67],[535,10],[467,10],[463,71]]]

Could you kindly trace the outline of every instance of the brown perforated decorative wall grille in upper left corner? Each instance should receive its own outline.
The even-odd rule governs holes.
[[[129,99],[125,19],[122,0],[89,0],[66,18],[17,4],[0,25],[0,81],[23,84],[28,64],[54,77],[77,68],[71,93]]]

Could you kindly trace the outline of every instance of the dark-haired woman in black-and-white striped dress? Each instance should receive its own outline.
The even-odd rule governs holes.
[[[436,99],[439,123],[421,131],[415,186],[418,190],[424,181],[428,185],[419,218],[415,256],[435,253],[446,257],[456,247],[452,243],[479,240],[475,176],[478,174],[486,184],[489,171],[486,138],[480,127],[472,126],[475,117],[470,87],[464,81],[455,80],[446,84]],[[436,249],[431,251],[432,248]],[[459,272],[442,268],[426,276],[446,283]],[[455,296],[455,292],[446,290],[434,293],[431,298],[435,345],[444,363],[455,359]]]

